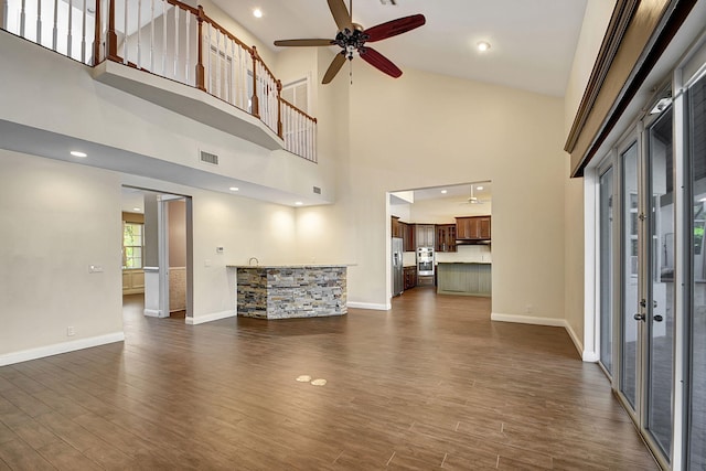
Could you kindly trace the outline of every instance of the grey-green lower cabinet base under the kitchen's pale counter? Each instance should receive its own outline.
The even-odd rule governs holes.
[[[491,264],[437,265],[437,293],[491,296]]]

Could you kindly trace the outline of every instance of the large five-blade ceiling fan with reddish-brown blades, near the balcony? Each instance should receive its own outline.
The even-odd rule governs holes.
[[[353,0],[350,3],[350,11],[345,8],[344,0],[328,0],[329,9],[333,15],[339,32],[333,40],[281,40],[275,41],[276,46],[331,46],[338,45],[341,47],[341,52],[329,65],[327,73],[323,74],[322,84],[330,83],[335,74],[339,73],[345,60],[353,60],[353,53],[357,52],[361,58],[373,67],[384,72],[392,77],[399,77],[402,71],[395,64],[393,64],[383,54],[375,51],[373,47],[368,47],[365,43],[374,43],[387,38],[396,36],[397,34],[406,33],[415,28],[421,26],[426,19],[424,14],[413,14],[410,17],[398,18],[396,20],[381,23],[376,26],[368,28],[367,30],[357,23],[353,22]]]

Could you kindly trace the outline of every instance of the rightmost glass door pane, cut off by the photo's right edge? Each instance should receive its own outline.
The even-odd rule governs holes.
[[[687,93],[693,236],[691,309],[691,387],[688,420],[688,469],[706,469],[706,77]]]

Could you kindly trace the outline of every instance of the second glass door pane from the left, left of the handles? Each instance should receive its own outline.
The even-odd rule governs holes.
[[[620,156],[622,162],[622,236],[621,285],[622,309],[620,313],[620,390],[632,410],[635,410],[638,390],[638,143],[633,142]]]

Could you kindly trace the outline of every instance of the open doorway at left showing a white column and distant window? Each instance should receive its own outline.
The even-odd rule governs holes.
[[[191,197],[122,188],[124,309],[147,317],[192,315]]]

